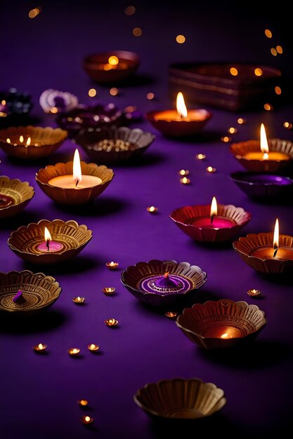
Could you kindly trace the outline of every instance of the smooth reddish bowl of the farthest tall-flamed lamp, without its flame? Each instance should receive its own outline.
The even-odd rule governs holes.
[[[206,126],[212,114],[207,109],[188,109],[188,114],[197,114],[198,120],[184,121],[184,120],[165,120],[164,114],[169,114],[170,110],[152,111],[145,114],[146,119],[152,124],[156,130],[169,137],[187,137],[192,136]],[[162,119],[158,119],[157,116],[161,114]]]

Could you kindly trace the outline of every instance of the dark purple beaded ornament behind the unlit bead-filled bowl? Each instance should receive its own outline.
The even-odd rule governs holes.
[[[79,105],[70,112],[58,114],[58,125],[74,137],[82,129],[122,126],[131,120],[140,119],[136,107],[118,109],[115,104]],[[66,128],[65,128],[66,127]]]

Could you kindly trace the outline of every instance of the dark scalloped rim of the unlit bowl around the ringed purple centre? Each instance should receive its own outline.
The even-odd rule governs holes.
[[[179,293],[157,294],[147,292],[138,288],[138,283],[142,278],[148,276],[164,275],[169,272],[188,279],[192,285],[189,290]],[[190,265],[189,262],[176,262],[173,259],[160,261],[152,259],[149,262],[138,262],[128,266],[121,275],[121,282],[124,287],[131,292],[136,299],[151,306],[170,306],[178,304],[186,295],[198,290],[207,281],[207,273],[202,271],[199,266]]]

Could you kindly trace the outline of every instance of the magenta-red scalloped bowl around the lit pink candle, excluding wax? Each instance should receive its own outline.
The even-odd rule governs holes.
[[[233,219],[235,225],[223,229],[203,229],[194,224],[186,224],[187,220],[209,217],[211,205],[185,205],[175,209],[169,217],[186,235],[195,241],[214,243],[229,241],[252,219],[252,214],[235,205],[218,204],[218,215]]]

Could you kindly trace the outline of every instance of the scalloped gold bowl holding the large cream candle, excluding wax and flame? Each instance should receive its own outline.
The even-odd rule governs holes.
[[[56,203],[60,204],[84,204],[89,203],[94,198],[102,194],[106,187],[112,181],[114,172],[112,169],[106,166],[98,166],[96,163],[80,162],[82,168],[82,175],[93,175],[94,177],[102,180],[101,184],[97,184],[93,187],[85,187],[83,189],[75,188],[62,188],[49,184],[49,180],[61,175],[72,174],[73,161],[67,163],[56,163],[55,166],[46,166],[46,168],[40,169],[36,174],[36,181],[39,184],[41,190]]]

